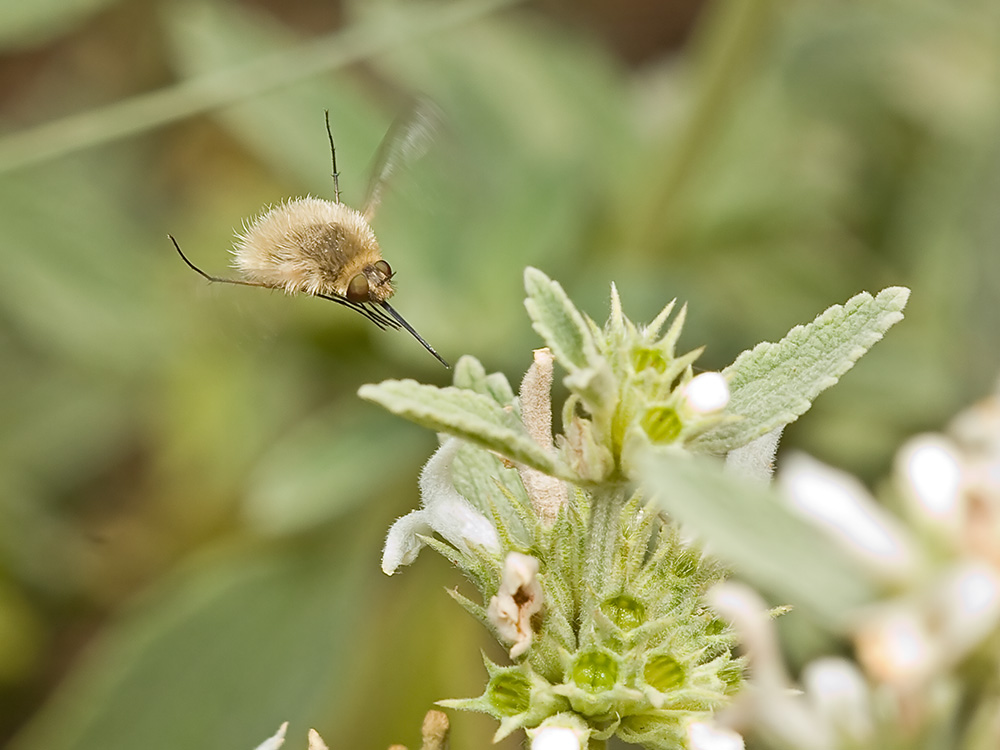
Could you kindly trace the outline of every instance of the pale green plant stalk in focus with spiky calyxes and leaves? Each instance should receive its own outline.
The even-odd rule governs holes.
[[[742,691],[744,663],[705,595],[726,570],[660,510],[648,477],[695,454],[728,456],[744,482],[769,476],[781,428],[902,317],[908,292],[860,294],[721,374],[695,375],[700,350],[675,352],[683,308],[637,326],[612,286],[601,327],[540,271],[525,272],[525,287],[546,346],[516,395],[470,356],[447,388],[361,388],[442,433],[420,478],[422,508],[393,525],[383,570],[429,546],[478,589],[476,600],[452,595],[510,663],[487,660],[483,694],[442,705],[495,717],[496,739],[525,729],[539,750],[565,747],[557,736],[581,748],[612,736],[660,750],[724,747],[739,738],[712,719]],[[556,363],[570,396],[553,435]]]

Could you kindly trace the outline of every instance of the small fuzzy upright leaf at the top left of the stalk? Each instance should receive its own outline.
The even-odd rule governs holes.
[[[570,372],[591,366],[597,350],[590,328],[559,282],[529,266],[524,271],[524,289],[532,327],[560,364]]]

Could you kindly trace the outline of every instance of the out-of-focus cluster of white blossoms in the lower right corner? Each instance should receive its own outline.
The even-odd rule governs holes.
[[[795,685],[760,596],[742,584],[713,589],[713,609],[750,660],[752,689],[720,717],[728,726],[792,750],[924,747],[928,737],[1000,747],[1000,396],[945,434],[908,441],[892,480],[880,503],[813,459],[782,461],[782,497],[884,594],[845,617],[854,658],[816,659]]]

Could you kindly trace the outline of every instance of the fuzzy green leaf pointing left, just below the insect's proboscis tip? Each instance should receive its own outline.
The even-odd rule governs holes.
[[[456,435],[546,474],[570,478],[558,458],[532,440],[517,417],[489,396],[464,388],[437,388],[415,380],[363,385],[361,398],[422,427]]]

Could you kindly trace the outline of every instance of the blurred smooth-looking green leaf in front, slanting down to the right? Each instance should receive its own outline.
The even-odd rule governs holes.
[[[844,624],[873,601],[874,584],[836,543],[796,515],[768,485],[724,473],[715,461],[647,454],[641,473],[652,502],[708,540],[741,577]]]

